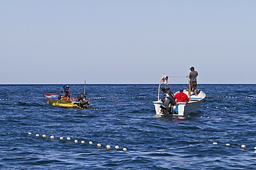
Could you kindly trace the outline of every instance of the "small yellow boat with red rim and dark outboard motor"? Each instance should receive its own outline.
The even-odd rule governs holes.
[[[80,93],[77,98],[70,98],[69,100],[64,100],[64,96],[58,94],[45,94],[44,96],[53,106],[87,109],[90,103],[89,100],[85,100],[84,93]]]

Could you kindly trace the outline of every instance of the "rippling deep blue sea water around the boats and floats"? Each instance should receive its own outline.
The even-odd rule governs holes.
[[[0,169],[256,169],[256,85],[198,87],[199,111],[158,117],[158,85],[86,85],[89,109],[49,105],[62,85],[0,85]]]

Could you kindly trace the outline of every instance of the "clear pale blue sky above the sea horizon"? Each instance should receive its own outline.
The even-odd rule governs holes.
[[[0,84],[256,84],[255,0],[0,0]]]

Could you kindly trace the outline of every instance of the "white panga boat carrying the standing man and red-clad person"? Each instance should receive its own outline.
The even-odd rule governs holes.
[[[162,79],[161,79],[162,80]],[[197,89],[197,96],[194,95],[194,92],[189,96],[188,89],[184,90],[183,93],[187,94],[190,100],[188,103],[185,102],[178,102],[175,105],[170,103],[169,107],[171,108],[172,112],[168,111],[163,107],[163,101],[159,99],[161,84],[158,87],[158,100],[154,101],[154,106],[156,110],[156,115],[172,115],[172,116],[188,116],[191,113],[198,111],[201,103],[205,99],[205,93],[199,89]],[[174,93],[177,94],[179,92]]]

